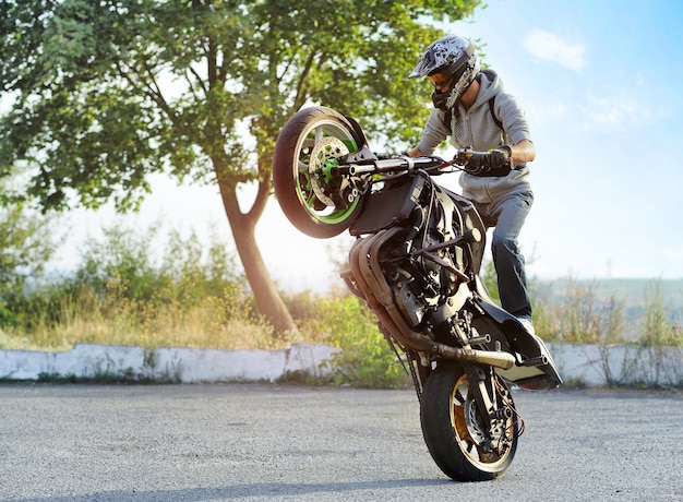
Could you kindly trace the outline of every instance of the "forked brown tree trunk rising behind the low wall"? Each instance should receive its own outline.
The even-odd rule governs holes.
[[[231,183],[218,177],[218,187],[220,188],[223,205],[232,229],[237,252],[244,267],[247,280],[253,290],[260,312],[273,325],[276,336],[287,331],[297,331],[297,325],[271,279],[261,251],[256,246],[254,230],[269,194],[269,182],[261,181],[259,183],[256,201],[248,213],[241,212],[236,188]]]

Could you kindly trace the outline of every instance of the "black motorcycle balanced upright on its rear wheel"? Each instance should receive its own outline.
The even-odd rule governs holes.
[[[342,277],[412,376],[432,458],[460,481],[510,467],[524,431],[511,387],[562,383],[543,342],[479,276],[486,228],[476,208],[434,181],[484,155],[378,155],[356,120],[316,106],[288,120],[273,156],[277,201],[298,230],[356,237]]]

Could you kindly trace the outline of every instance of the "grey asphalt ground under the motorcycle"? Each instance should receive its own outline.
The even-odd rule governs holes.
[[[515,392],[505,475],[448,480],[412,391],[0,385],[0,500],[683,500],[683,396]]]

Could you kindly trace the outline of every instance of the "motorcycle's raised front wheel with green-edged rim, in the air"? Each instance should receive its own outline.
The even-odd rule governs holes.
[[[273,184],[285,216],[301,232],[334,237],[356,219],[361,194],[333,168],[362,141],[343,115],[325,107],[304,108],[285,124],[275,144]]]

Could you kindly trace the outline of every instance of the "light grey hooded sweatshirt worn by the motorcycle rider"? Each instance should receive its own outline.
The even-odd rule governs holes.
[[[453,145],[456,148],[469,147],[488,152],[501,145],[514,145],[522,140],[531,141],[524,111],[515,98],[505,93],[498,74],[492,70],[484,70],[479,77],[480,88],[475,104],[466,110],[457,103],[457,110],[453,110],[451,123]],[[495,123],[489,108],[489,99],[493,96],[495,96],[493,112],[503,123],[503,131]],[[434,108],[427,120],[418,148],[431,155],[447,138],[445,111]],[[515,165],[515,169],[504,177],[479,177],[463,172],[459,182],[463,195],[479,203],[489,203],[513,193],[531,191],[529,168],[524,164]]]

